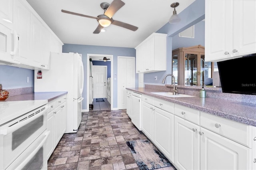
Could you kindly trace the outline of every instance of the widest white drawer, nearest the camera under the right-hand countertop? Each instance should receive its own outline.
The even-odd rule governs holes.
[[[209,113],[200,112],[200,125],[252,148],[252,127]]]

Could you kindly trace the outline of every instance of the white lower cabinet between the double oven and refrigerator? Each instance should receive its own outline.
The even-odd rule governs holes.
[[[50,131],[46,141],[47,159],[50,158],[54,148],[57,146],[60,138],[66,131],[67,107],[66,95],[54,99],[48,103],[50,110],[47,114],[47,130]]]

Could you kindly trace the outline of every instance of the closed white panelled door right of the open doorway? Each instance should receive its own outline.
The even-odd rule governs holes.
[[[118,109],[126,109],[126,87],[135,87],[134,57],[118,57]]]

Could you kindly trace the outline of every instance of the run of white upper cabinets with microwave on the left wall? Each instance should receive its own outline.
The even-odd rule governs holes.
[[[50,69],[50,51],[63,43],[26,0],[0,0],[0,63]]]

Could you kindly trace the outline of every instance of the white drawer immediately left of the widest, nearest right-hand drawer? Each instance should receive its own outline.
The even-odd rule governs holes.
[[[182,117],[196,125],[200,125],[200,111],[181,105],[174,105],[174,115]]]

